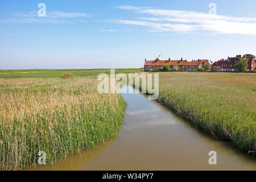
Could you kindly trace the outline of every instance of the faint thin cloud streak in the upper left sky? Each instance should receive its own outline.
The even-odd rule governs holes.
[[[0,23],[75,23],[86,22],[81,18],[86,18],[92,15],[85,13],[67,13],[63,11],[47,12],[45,17],[39,17],[37,11],[28,13],[12,13],[6,18],[0,19]]]

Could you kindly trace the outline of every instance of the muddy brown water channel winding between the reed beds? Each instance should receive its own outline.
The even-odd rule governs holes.
[[[118,138],[56,164],[24,170],[256,170],[254,158],[209,137],[144,94],[122,96],[128,107]],[[216,151],[216,165],[208,163],[209,151]]]

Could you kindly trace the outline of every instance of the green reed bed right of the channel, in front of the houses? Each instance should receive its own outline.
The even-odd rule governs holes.
[[[159,73],[159,101],[218,139],[256,153],[256,74]]]

